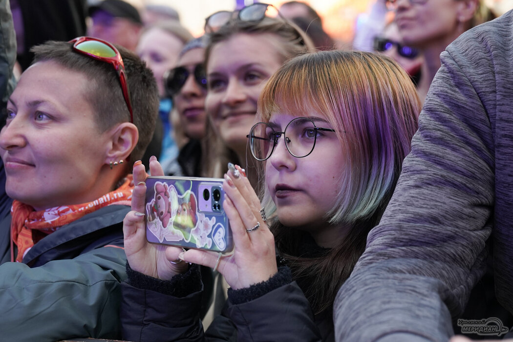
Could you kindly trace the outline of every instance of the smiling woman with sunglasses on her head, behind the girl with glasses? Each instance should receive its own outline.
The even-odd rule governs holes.
[[[209,33],[205,107],[207,137],[212,144],[205,153],[207,176],[221,177],[226,163],[233,162],[246,168],[251,183],[257,185],[254,163],[246,153],[246,135],[254,124],[260,92],[283,63],[314,51],[301,29],[284,19],[265,16],[266,8],[264,4],[248,6],[238,18]],[[249,11],[257,10],[261,14],[258,20],[245,20]],[[212,30],[209,23],[216,22],[219,15],[232,15],[218,13],[207,18],[207,31]]]

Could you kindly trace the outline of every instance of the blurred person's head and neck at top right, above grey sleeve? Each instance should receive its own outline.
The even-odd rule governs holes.
[[[440,69],[440,53],[466,30],[495,17],[482,0],[386,0],[403,43],[424,55],[417,86],[424,102]]]

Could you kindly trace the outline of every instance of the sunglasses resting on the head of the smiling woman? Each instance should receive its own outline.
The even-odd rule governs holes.
[[[228,23],[231,19],[239,19],[243,22],[260,22],[267,16],[275,16],[272,13],[268,13],[268,9],[275,10],[276,14],[281,16],[280,11],[274,5],[256,3],[244,7],[239,11],[219,11],[209,15],[205,19],[205,33],[212,33],[218,31],[223,25]],[[285,18],[283,18],[285,19]]]

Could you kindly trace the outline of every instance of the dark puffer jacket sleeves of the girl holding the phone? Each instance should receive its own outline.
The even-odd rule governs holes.
[[[264,283],[228,291],[221,315],[204,332],[202,286],[191,266],[170,281],[131,271],[123,283],[123,338],[130,341],[321,341],[333,339],[331,314],[313,317],[288,267]]]

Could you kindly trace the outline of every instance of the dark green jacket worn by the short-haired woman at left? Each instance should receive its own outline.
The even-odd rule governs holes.
[[[129,210],[112,205],[65,225],[35,244],[23,263],[10,262],[10,215],[1,220],[0,339],[119,338]]]

